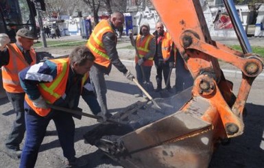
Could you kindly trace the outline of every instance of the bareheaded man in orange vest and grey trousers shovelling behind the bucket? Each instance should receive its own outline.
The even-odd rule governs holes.
[[[106,104],[107,88],[104,75],[110,73],[113,64],[128,80],[133,80],[134,78],[134,75],[119,60],[117,53],[115,29],[123,26],[123,23],[123,14],[121,12],[114,12],[111,14],[110,19],[102,20],[95,26],[86,44],[95,56],[95,63],[91,68],[90,76],[91,82],[95,86],[97,100],[101,107],[101,113],[99,115],[104,117],[104,120],[111,116]]]

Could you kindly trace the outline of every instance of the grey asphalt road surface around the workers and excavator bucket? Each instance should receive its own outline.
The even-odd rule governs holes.
[[[128,67],[134,73],[133,67]],[[154,82],[155,69],[152,69],[152,81]],[[175,74],[171,75],[171,83],[174,84]],[[237,93],[240,79],[239,77],[228,77],[228,80],[234,82],[234,91]],[[108,108],[111,112],[118,112],[123,108],[134,104],[136,101],[142,101],[142,98],[134,97],[138,88],[113,68],[109,76],[106,76],[108,86]],[[156,87],[156,82],[154,82]],[[248,103],[248,115],[245,117],[245,133],[235,139],[226,146],[220,146],[213,155],[210,167],[226,168],[226,167],[263,167],[264,165],[264,102],[263,102],[263,80],[254,82]],[[80,101],[80,108],[84,112],[90,113],[88,106],[84,101]],[[9,134],[14,119],[12,106],[7,99],[0,99],[0,167],[18,167],[19,160],[14,160],[5,154],[4,141]],[[82,117],[82,120],[75,119],[75,149],[76,156],[80,163],[83,163],[83,168],[91,167],[121,167],[112,159],[106,157],[97,147],[84,143],[82,138],[87,130],[91,129],[92,125],[97,123],[94,119]],[[23,145],[23,144],[22,144]],[[21,145],[21,146],[22,146]],[[49,124],[47,136],[45,137],[38,154],[36,168],[44,167],[62,167],[62,149],[58,142],[58,136],[53,122]]]

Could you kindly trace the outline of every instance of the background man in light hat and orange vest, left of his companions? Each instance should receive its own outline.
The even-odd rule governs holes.
[[[154,90],[152,82],[150,82],[150,74],[153,66],[153,58],[156,51],[155,39],[152,34],[149,34],[149,24],[141,25],[139,35],[136,40],[133,34],[130,34],[130,42],[136,50],[136,79],[146,91]],[[139,94],[146,98],[144,93]]]

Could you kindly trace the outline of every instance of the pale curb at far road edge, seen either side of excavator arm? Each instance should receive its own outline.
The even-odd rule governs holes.
[[[131,66],[135,67],[134,60],[121,60],[125,66]],[[242,73],[241,71],[234,71],[234,70],[228,70],[228,69],[221,69],[226,77],[235,77],[237,79],[242,79]],[[256,79],[257,81],[263,81],[264,80],[264,73],[259,74]]]

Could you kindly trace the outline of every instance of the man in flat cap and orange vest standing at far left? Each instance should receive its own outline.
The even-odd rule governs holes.
[[[25,92],[19,82],[19,71],[36,64],[36,52],[32,49],[35,39],[33,32],[23,28],[16,32],[16,43],[8,45],[10,43],[8,35],[0,34],[0,67],[3,75],[3,88],[16,112],[12,131],[5,142],[6,151],[12,158],[20,158],[19,145],[25,134]]]

